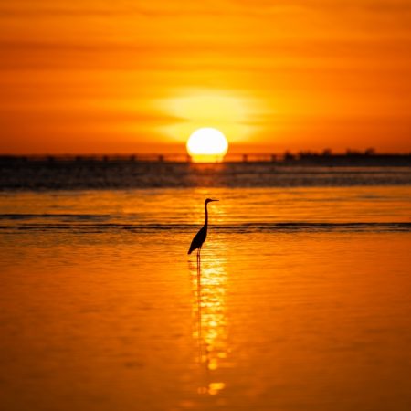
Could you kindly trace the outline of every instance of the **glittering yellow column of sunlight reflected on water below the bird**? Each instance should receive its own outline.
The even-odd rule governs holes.
[[[220,260],[201,258],[190,264],[195,314],[194,338],[198,344],[197,362],[204,370],[199,394],[216,395],[225,384],[217,370],[227,365],[227,275]]]

